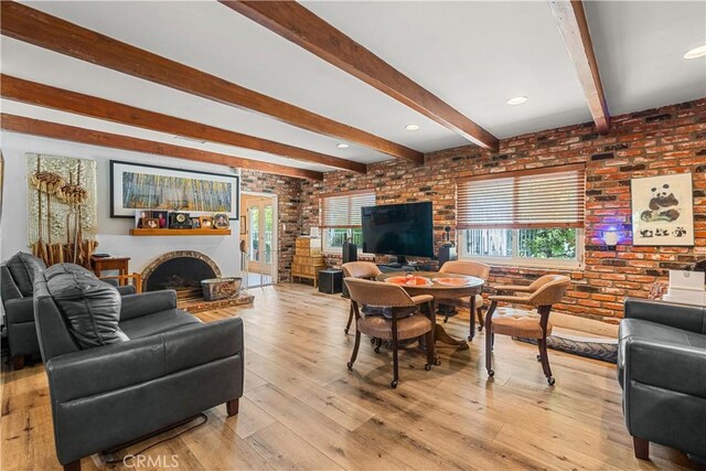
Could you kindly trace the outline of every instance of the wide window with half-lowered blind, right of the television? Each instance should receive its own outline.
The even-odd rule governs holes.
[[[584,165],[459,180],[461,257],[576,267],[584,250]]]

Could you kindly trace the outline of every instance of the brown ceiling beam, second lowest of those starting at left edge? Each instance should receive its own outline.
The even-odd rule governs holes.
[[[135,126],[152,131],[167,132],[200,139],[208,142],[218,142],[246,149],[269,152],[277,156],[304,162],[314,162],[323,165],[335,167],[343,170],[365,173],[365,164],[351,160],[339,159],[324,153],[301,149],[243,135],[227,129],[221,129],[188,119],[175,118],[160,113],[148,111],[133,106],[110,101],[75,92],[56,88],[35,82],[17,78],[10,75],[0,75],[0,96],[14,101],[57,109],[60,111],[74,113],[92,118],[105,119],[121,125]]]

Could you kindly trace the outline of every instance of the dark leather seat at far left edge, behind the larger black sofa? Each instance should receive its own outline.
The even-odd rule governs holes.
[[[19,251],[0,265],[0,293],[8,329],[9,357],[14,370],[24,366],[24,357],[40,353],[34,325],[34,278],[46,265],[28,253]],[[86,270],[86,272],[89,272]],[[120,295],[135,292],[132,286],[118,287]]]

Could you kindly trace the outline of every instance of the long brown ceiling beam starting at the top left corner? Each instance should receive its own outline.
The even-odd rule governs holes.
[[[175,61],[14,1],[2,1],[2,34],[181,92],[276,118],[385,154],[424,162],[424,154],[361,129],[242,87]]]

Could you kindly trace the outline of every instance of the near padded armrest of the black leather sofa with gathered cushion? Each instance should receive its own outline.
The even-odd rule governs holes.
[[[231,318],[68,353],[49,360],[45,367],[52,400],[61,404],[242,353],[243,320]]]

